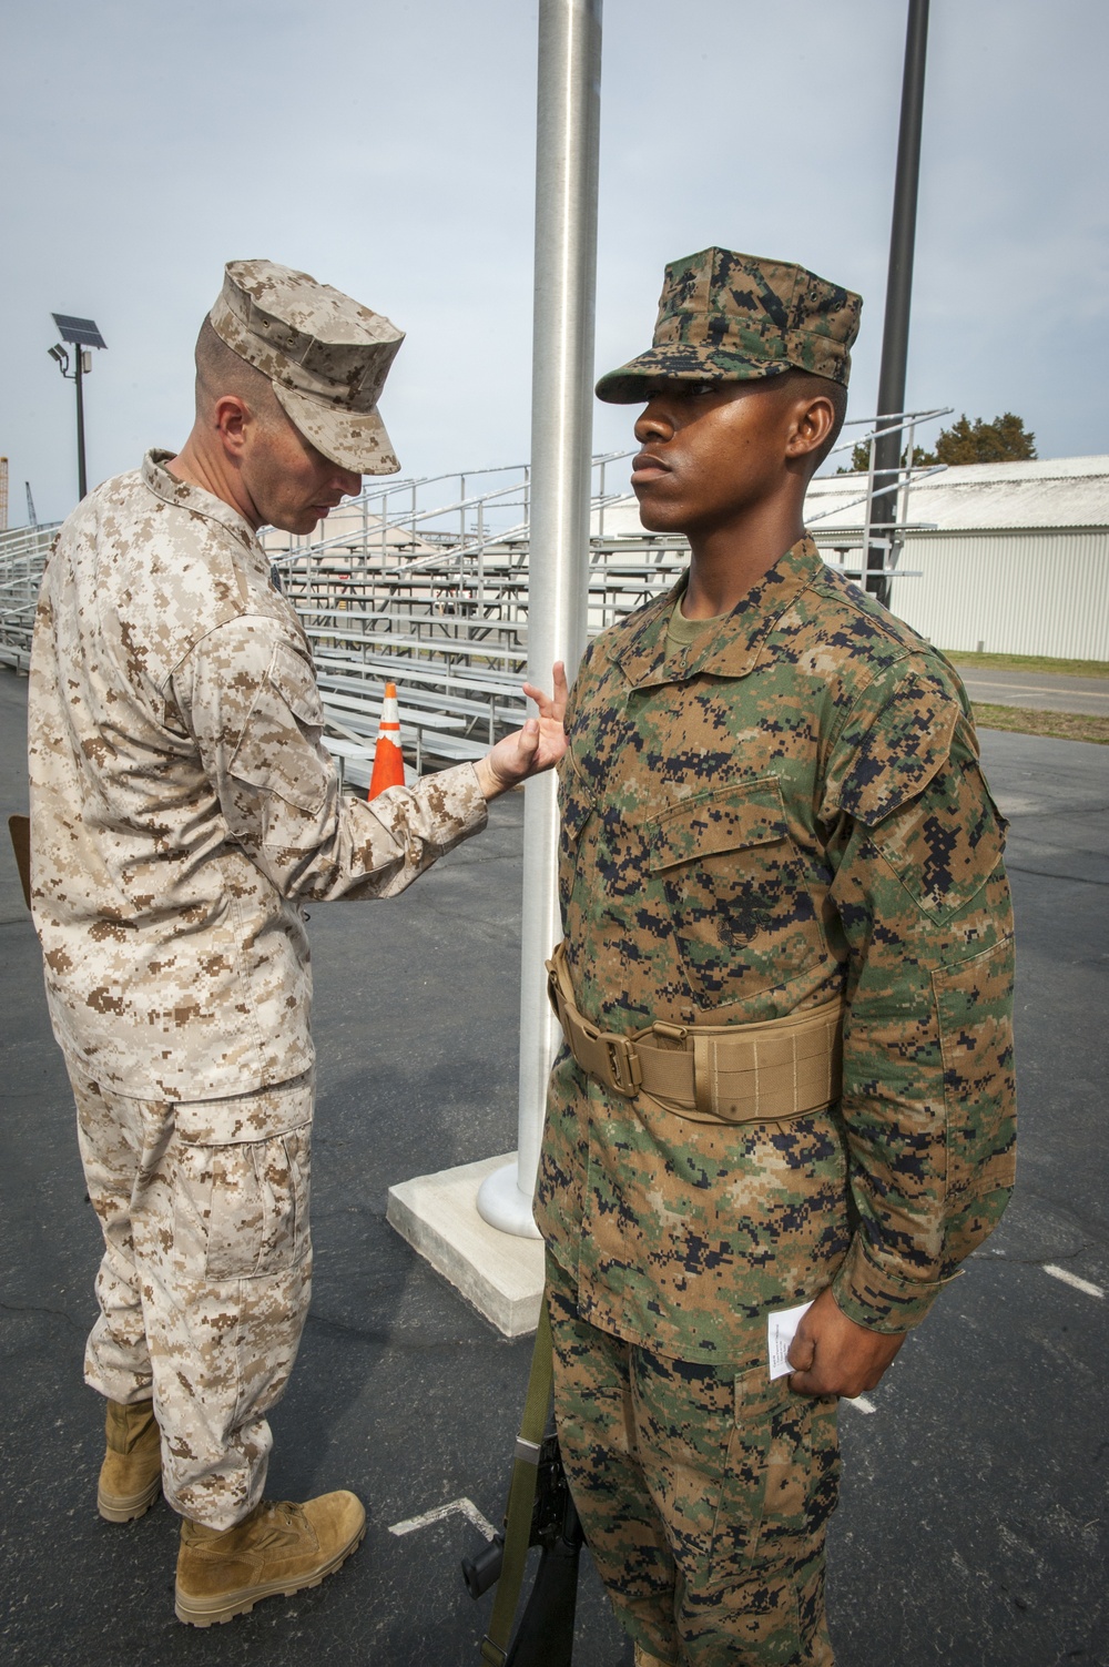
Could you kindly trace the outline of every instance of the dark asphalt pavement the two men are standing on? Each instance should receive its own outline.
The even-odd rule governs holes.
[[[0,672],[5,813],[27,683]],[[1109,1667],[1109,748],[984,732],[1017,899],[1019,1187],[1002,1227],[842,1414],[839,1667]],[[98,1230],[40,957],[0,854],[0,1652],[10,1667],[477,1667],[457,1572],[499,1520],[530,1342],[500,1339],[385,1222],[395,1180],[514,1145],[522,798],[410,892],[314,907],[317,1272],[268,1492],[354,1487],[369,1534],[312,1592],[172,1615],[177,1520],[95,1512],[82,1385]],[[445,1509],[450,1507],[450,1509]],[[430,1514],[424,1527],[392,1529]],[[630,1649],[584,1560],[575,1667]]]

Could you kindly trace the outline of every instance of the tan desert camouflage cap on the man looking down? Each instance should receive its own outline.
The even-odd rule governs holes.
[[[377,400],[404,330],[273,260],[230,260],[212,328],[262,370],[302,435],[362,475],[400,468]]]

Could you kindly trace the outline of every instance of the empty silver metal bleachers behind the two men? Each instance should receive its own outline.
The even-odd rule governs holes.
[[[911,423],[934,415],[942,413],[907,413],[909,440]],[[871,442],[872,430],[864,438]],[[685,538],[644,532],[627,493],[630,455],[609,452],[592,465],[590,635],[665,592],[689,560]],[[872,467],[869,480],[854,477],[857,495],[847,503],[847,518],[861,525],[844,530],[841,513],[836,528],[814,527],[829,565],[852,577],[871,542],[862,505]],[[902,467],[901,517],[909,477],[927,472]],[[620,490],[612,490],[614,480]],[[369,782],[387,682],[399,688],[400,738],[417,773],[479,758],[525,717],[529,512],[530,468],[520,463],[377,478],[307,538],[262,533],[312,642],[325,742],[352,783]],[[55,532],[57,523],[0,532],[0,660],[17,670],[30,658],[35,597]]]

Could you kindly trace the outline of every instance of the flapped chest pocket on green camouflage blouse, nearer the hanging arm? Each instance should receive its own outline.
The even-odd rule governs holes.
[[[702,1007],[789,984],[825,954],[805,864],[775,778],[669,810],[650,840],[685,979]]]

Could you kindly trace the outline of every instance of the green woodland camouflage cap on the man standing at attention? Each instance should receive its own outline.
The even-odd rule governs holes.
[[[787,260],[702,248],[665,268],[654,345],[597,383],[612,405],[649,383],[745,382],[810,370],[847,385],[862,297]]]

